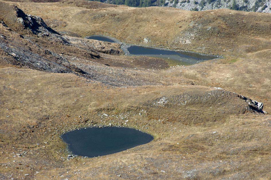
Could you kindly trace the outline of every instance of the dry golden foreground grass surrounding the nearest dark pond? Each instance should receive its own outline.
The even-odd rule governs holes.
[[[162,123],[162,119],[149,118],[147,114],[157,116],[161,109],[155,111],[143,105],[162,96],[212,88],[174,85],[106,89],[70,74],[12,67],[1,68],[0,73],[0,122],[4,132],[1,133],[4,142],[0,142],[3,149],[0,158],[8,167],[1,166],[4,175],[12,173],[12,177],[21,178],[28,173],[29,178],[35,179],[63,179],[61,175],[68,179],[115,179],[119,174],[128,179],[259,179],[270,175],[266,171],[270,168],[270,116],[226,113],[215,122],[184,125],[178,119],[174,122],[164,119]],[[143,111],[142,116],[139,116],[141,108],[137,108],[140,105],[147,111]],[[206,119],[213,117],[206,111],[209,107],[200,106]],[[193,107],[187,105],[186,110]],[[181,118],[190,116],[182,108],[172,107],[163,113],[170,116],[177,110]],[[101,118],[99,113],[115,116]],[[124,120],[116,119],[116,115],[125,114]],[[67,156],[65,144],[59,138],[64,130],[91,124],[107,125],[110,120],[114,120],[114,125],[124,125],[126,119],[126,126],[148,132],[155,140],[117,154],[91,159],[78,157],[71,161],[61,159]],[[44,141],[49,144],[43,144]],[[6,154],[9,149],[15,153],[25,152],[24,157]]]

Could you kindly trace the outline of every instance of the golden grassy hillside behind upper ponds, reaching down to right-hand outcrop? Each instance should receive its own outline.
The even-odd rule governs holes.
[[[85,1],[17,5],[43,17],[49,25],[55,19],[65,22],[65,26],[55,27],[58,31],[83,37],[104,34],[139,44],[147,37],[148,45],[224,55],[223,60],[169,72],[258,99],[266,104],[267,111],[271,110],[271,14],[161,7],[96,9],[97,2],[92,3],[88,3],[88,9],[81,7]],[[94,9],[89,9],[91,6]]]

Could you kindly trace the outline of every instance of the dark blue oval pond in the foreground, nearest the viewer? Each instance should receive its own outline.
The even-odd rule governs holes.
[[[97,157],[146,144],[150,134],[131,128],[86,128],[67,132],[61,138],[69,150],[79,156]]]

